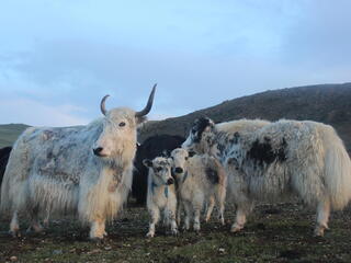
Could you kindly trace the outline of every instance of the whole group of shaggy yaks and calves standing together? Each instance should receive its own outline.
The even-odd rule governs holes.
[[[188,138],[154,136],[137,142],[137,127],[150,112],[110,111],[87,126],[30,127],[11,148],[0,150],[0,216],[11,216],[10,233],[20,233],[25,213],[34,231],[41,220],[73,214],[90,226],[90,239],[106,236],[128,193],[150,216],[154,237],[161,215],[173,235],[200,231],[216,206],[225,224],[225,204],[234,204],[231,232],[240,231],[256,201],[298,196],[316,209],[314,235],[324,236],[331,210],[351,198],[351,161],[336,130],[312,121],[238,119],[215,124],[200,117]],[[0,181],[0,182],[1,182]],[[183,216],[183,217],[182,217]]]

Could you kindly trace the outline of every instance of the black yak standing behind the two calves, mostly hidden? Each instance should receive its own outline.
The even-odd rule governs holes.
[[[156,135],[147,138],[137,148],[132,194],[138,205],[145,204],[147,193],[148,169],[143,164],[143,160],[152,160],[165,152],[171,152],[173,149],[179,148],[184,140],[183,137],[177,135]]]

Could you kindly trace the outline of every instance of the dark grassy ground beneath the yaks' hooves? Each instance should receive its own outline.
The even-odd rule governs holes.
[[[224,227],[213,216],[201,233],[172,237],[159,226],[147,239],[146,209],[131,207],[100,243],[89,241],[88,228],[76,219],[53,219],[45,233],[11,238],[1,218],[0,262],[351,262],[351,208],[332,214],[324,238],[313,237],[314,211],[295,202],[258,205],[239,233],[229,232],[234,209],[225,215]]]

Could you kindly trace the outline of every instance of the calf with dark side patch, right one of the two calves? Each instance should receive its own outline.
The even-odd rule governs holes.
[[[182,148],[171,152],[173,172],[177,179],[179,202],[185,209],[184,228],[200,230],[200,214],[205,203],[208,204],[206,221],[210,219],[215,202],[218,215],[224,225],[224,203],[226,198],[226,175],[220,163],[208,155],[193,156]],[[191,157],[191,158],[190,158]],[[180,207],[180,206],[179,206]],[[178,215],[180,210],[178,210]]]

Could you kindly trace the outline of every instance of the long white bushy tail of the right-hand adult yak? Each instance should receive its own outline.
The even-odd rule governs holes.
[[[332,136],[332,137],[331,137]],[[351,160],[342,140],[327,132],[325,185],[332,209],[342,209],[351,198]]]

